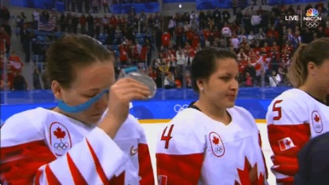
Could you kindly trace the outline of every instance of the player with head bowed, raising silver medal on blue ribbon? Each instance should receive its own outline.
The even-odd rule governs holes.
[[[88,36],[51,45],[47,73],[58,107],[5,121],[1,184],[154,184],[143,129],[128,115],[130,102],[149,89],[130,78],[114,82],[113,62]]]

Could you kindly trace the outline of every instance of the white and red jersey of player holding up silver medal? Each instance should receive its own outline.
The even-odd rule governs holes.
[[[143,128],[133,116],[112,140],[58,112],[36,108],[1,127],[1,184],[154,184]]]

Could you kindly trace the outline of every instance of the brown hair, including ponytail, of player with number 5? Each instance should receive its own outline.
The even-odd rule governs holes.
[[[309,44],[302,44],[293,55],[288,77],[295,88],[302,86],[307,78],[307,64],[314,62],[321,66],[324,60],[329,59],[329,38],[319,38]]]

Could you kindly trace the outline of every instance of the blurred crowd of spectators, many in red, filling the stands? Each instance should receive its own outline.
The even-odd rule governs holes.
[[[96,5],[96,1],[90,3]],[[100,5],[101,2],[97,3]],[[30,45],[27,45],[31,41],[34,43],[33,56],[45,60],[49,41],[56,40],[62,33],[88,34],[116,53],[119,68],[141,66],[141,70],[149,73],[159,88],[190,88],[188,69],[195,53],[203,47],[230,49],[237,54],[241,86],[289,86],[286,74],[295,49],[302,42],[329,36],[327,6],[317,3],[302,9],[300,5],[275,5],[271,11],[254,6],[244,13],[237,8],[233,14],[216,8],[191,14],[177,13],[170,19],[169,25],[164,25],[158,13],[136,14],[132,11],[127,15],[108,13],[99,17],[36,10],[32,24],[24,23],[23,14],[17,17],[19,31],[16,30],[16,34],[21,36],[27,53],[25,62],[31,58]],[[299,22],[284,18],[286,15],[304,14],[309,8],[316,8],[322,18],[318,27],[300,27]],[[236,19],[230,23],[234,15]],[[48,28],[51,27],[51,33],[40,32],[40,22],[45,21],[44,18]],[[47,26],[42,29],[47,29]],[[38,75],[38,70],[35,73]],[[36,87],[40,88],[38,82]]]

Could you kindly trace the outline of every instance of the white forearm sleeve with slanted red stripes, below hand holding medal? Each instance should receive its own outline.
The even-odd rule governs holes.
[[[64,156],[42,166],[35,181],[49,184],[106,184],[123,172],[127,164],[123,151],[103,130],[96,128]]]

